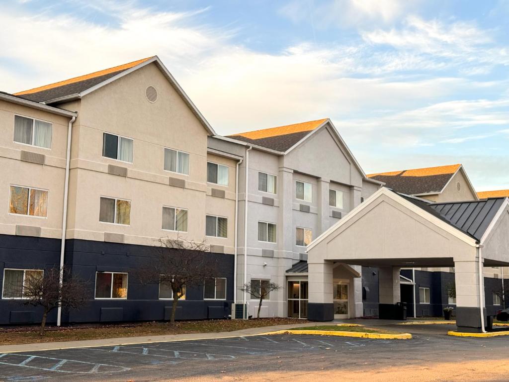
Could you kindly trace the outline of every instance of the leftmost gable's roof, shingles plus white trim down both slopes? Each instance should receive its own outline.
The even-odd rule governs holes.
[[[124,75],[154,63],[161,73],[166,77],[170,85],[180,95],[182,100],[190,108],[194,116],[201,122],[210,135],[216,135],[214,129],[205,119],[202,113],[194,105],[184,90],[177,83],[172,73],[166,69],[159,57],[153,56],[142,60],[133,61],[127,64],[115,66],[109,69],[100,70],[94,73],[85,74],[60,81],[54,84],[15,93],[14,96],[42,104],[57,104],[59,102],[79,99],[93,91],[108,85],[112,81],[122,78]]]

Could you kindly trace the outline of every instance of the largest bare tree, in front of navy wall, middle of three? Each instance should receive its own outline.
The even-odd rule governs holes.
[[[172,290],[171,325],[175,324],[175,313],[179,299],[185,296],[188,286],[200,286],[208,278],[218,277],[217,260],[204,242],[161,238],[155,247],[156,256],[150,259],[151,266],[137,271],[144,284],[159,284],[159,288]]]

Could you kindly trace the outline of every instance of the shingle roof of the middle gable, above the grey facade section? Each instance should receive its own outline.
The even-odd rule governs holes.
[[[228,135],[228,138],[284,152],[327,120],[328,119],[325,118],[316,121],[296,123],[293,125],[241,132]]]

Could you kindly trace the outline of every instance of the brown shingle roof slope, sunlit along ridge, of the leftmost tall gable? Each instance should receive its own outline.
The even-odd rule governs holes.
[[[14,95],[34,102],[44,102],[55,98],[77,94],[84,90],[90,89],[95,85],[98,85],[107,80],[108,78],[114,77],[117,74],[126,71],[127,69],[150,60],[151,58],[152,57],[148,57],[146,59],[133,61],[94,73],[73,77],[54,84],[18,92]]]

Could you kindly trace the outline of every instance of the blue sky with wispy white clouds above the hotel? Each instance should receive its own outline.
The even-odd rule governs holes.
[[[0,0],[0,90],[157,54],[221,135],[330,118],[366,173],[509,188],[509,0]]]

